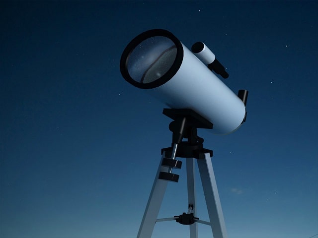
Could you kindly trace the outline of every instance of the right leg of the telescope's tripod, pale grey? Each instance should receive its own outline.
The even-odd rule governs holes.
[[[201,158],[201,156],[203,158]],[[227,238],[227,231],[209,153],[201,154],[198,161],[205,201],[208,208],[213,238]]]

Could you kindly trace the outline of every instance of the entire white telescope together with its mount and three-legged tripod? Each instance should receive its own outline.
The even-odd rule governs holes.
[[[162,29],[146,31],[125,48],[120,71],[133,86],[147,91],[169,108],[163,114],[173,121],[171,147],[161,149],[161,160],[137,238],[151,238],[157,222],[175,221],[188,225],[190,238],[198,238],[197,223],[211,226],[213,238],[227,238],[219,193],[211,157],[203,148],[197,128],[211,129],[214,134],[229,134],[246,119],[247,90],[236,95],[217,75],[228,78],[225,67],[202,42],[186,48],[172,33]],[[186,138],[187,141],[183,141]],[[187,213],[158,219],[167,182],[178,182],[185,158],[188,206]],[[195,168],[197,161],[210,221],[197,217]],[[177,198],[179,199],[179,197]],[[175,203],[176,201],[173,201]]]

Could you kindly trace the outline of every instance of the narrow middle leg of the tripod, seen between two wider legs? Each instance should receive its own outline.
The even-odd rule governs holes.
[[[194,159],[186,158],[187,182],[188,182],[188,202],[192,205],[192,213],[196,217],[196,200],[195,200],[195,177],[194,177]],[[189,225],[190,238],[198,238],[198,224],[195,222]]]

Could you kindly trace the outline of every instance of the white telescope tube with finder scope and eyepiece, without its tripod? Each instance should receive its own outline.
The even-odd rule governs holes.
[[[213,123],[212,133],[235,131],[246,119],[248,92],[236,95],[217,77],[229,74],[204,43],[195,43],[191,51],[169,31],[149,30],[127,45],[120,71],[169,108],[193,110]]]

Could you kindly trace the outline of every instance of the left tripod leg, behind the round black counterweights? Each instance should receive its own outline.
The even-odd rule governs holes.
[[[160,172],[168,172],[168,167],[161,166],[165,152],[162,153],[157,175],[150,192],[143,220],[141,222],[137,238],[151,238],[153,234],[159,209],[163,200],[164,192],[168,181],[158,179]]]

